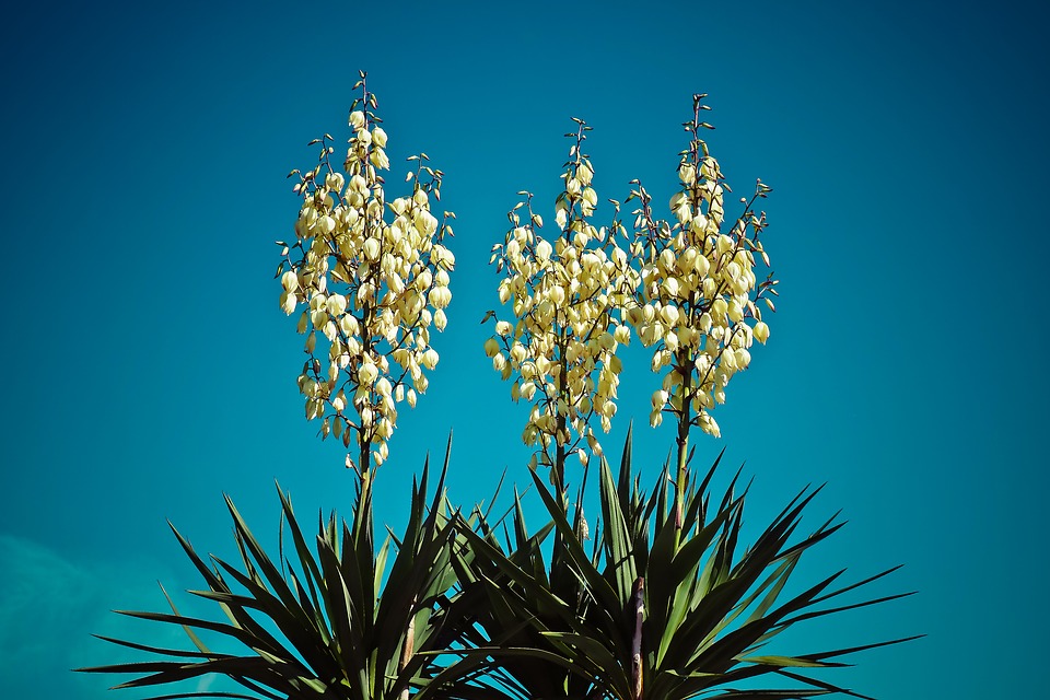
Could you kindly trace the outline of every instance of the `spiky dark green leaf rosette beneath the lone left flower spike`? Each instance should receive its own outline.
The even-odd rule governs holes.
[[[180,626],[191,649],[161,649],[102,638],[164,658],[82,668],[90,673],[133,674],[120,688],[176,684],[208,674],[232,678],[255,695],[174,692],[154,698],[338,698],[394,700],[410,690],[424,700],[439,690],[429,680],[438,672],[440,650],[460,632],[447,612],[432,617],[455,583],[451,555],[455,514],[443,494],[445,469],[428,506],[429,465],[413,481],[405,534],[387,537],[378,549],[372,536],[370,488],[357,492],[353,523],[336,514],[318,518],[314,548],[303,535],[291,501],[280,493],[292,551],[282,539],[271,559],[226,498],[241,562],[211,557],[210,567],[177,530],[175,536],[203,576],[208,588],[191,591],[214,600],[226,617],[212,621],[172,612],[120,611]],[[280,490],[279,490],[280,492]],[[173,527],[174,529],[174,527]],[[393,549],[393,552],[392,552]],[[393,553],[393,557],[390,555]],[[389,574],[386,565],[389,561]],[[167,594],[165,593],[165,596]],[[445,603],[447,608],[447,602]],[[275,630],[271,632],[270,630]],[[242,653],[212,650],[198,632],[217,634]],[[440,641],[445,640],[445,641]],[[448,678],[454,674],[446,674]]]

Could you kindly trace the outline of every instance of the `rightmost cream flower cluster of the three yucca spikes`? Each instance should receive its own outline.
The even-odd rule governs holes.
[[[756,256],[769,266],[760,233],[765,212],[751,206],[770,190],[758,182],[755,197],[726,230],[724,185],[718,161],[698,131],[704,107],[696,101],[692,142],[678,165],[680,189],[670,199],[674,223],[652,218],[651,197],[635,182],[630,199],[640,202],[635,215],[633,252],[639,258],[639,304],[628,318],[645,347],[653,347],[652,370],[663,374],[652,396],[650,423],[658,425],[669,411],[688,424],[719,436],[710,411],[725,401],[725,387],[750,363],[750,347],[765,343],[769,327],[756,304],[767,293],[775,295],[771,278],[759,283]],[[752,322],[748,323],[748,322]]]

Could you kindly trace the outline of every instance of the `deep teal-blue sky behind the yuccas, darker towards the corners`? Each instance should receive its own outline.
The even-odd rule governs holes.
[[[381,521],[400,527],[411,475],[450,429],[454,499],[488,498],[504,468],[527,481],[526,411],[478,320],[515,192],[552,214],[569,118],[594,126],[602,199],[640,177],[663,202],[690,95],[707,92],[731,184],[774,188],[782,295],[700,456],[746,462],[755,527],[828,483],[809,522],[842,509],[850,524],[803,567],[810,580],[903,563],[879,591],[921,592],[800,641],[929,634],[828,676],[878,698],[1038,697],[1046,26],[1014,2],[8,9],[0,696],[141,697],[67,669],[124,658],[91,632],[177,639],[107,611],[163,609],[156,580],[199,585],[165,518],[229,556],[223,492],[266,533],[275,479],[301,513],[348,509],[341,452],[302,419],[272,242],[298,211],[284,175],[314,162],[310,139],[346,138],[365,69],[392,189],[425,151],[459,217],[441,365],[401,412]],[[606,443],[618,453],[635,417],[651,477],[670,445],[645,425],[654,382],[629,355]]]

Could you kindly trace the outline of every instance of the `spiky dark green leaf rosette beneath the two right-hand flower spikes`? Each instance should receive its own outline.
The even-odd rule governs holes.
[[[542,567],[539,551],[547,528],[529,538],[518,534],[515,547],[506,549],[485,527],[469,534],[472,560],[459,565],[470,572],[475,590],[483,591],[486,617],[479,625],[491,643],[465,655],[508,674],[508,696],[866,697],[808,673],[845,665],[837,660],[905,639],[792,654],[765,653],[763,648],[798,622],[909,595],[829,605],[895,569],[835,587],[838,572],[785,596],[802,555],[842,524],[832,518],[796,537],[803,511],[819,491],[807,489],[740,551],[747,490],[737,493],[734,478],[721,499],[712,500],[710,485],[720,460],[721,455],[699,483],[686,479],[679,529],[667,467],[646,495],[632,471],[629,434],[618,477],[604,460],[599,469],[602,522],[590,555],[580,538],[579,506],[571,522],[563,502],[534,474],[558,538],[550,570]],[[553,583],[567,575],[574,587]],[[773,677],[771,686],[754,688],[749,679],[760,676]],[[747,688],[735,686],[742,681]]]

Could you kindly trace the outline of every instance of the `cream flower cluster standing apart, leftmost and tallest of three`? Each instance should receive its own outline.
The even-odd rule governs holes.
[[[397,404],[415,406],[427,390],[425,372],[438,364],[431,332],[445,328],[455,257],[443,245],[454,215],[431,213],[442,172],[425,164],[425,154],[410,158],[412,192],[388,201],[380,175],[389,168],[387,135],[363,72],[359,89],[342,168],[331,165],[326,133],[311,142],[322,145],[317,166],[289,175],[298,176],[302,207],[295,242],[278,242],[277,275],[284,313],[305,306],[298,329],[306,335],[299,376],[306,418],[320,419],[322,438],[357,442],[368,472],[388,456]],[[348,466],[357,465],[348,457]]]

